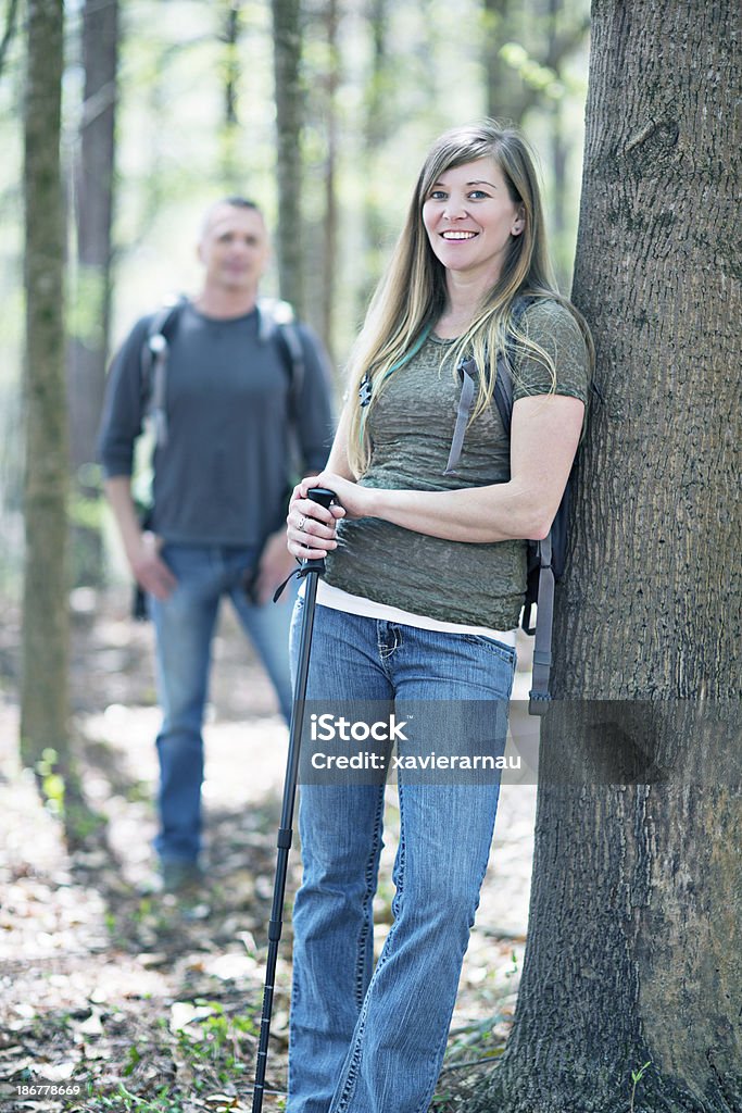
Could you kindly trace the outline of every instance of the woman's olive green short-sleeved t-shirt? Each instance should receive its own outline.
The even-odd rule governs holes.
[[[587,354],[571,313],[540,301],[526,309],[521,328],[553,357],[556,393],[586,402]],[[451,359],[444,362],[453,343],[431,335],[394,372],[369,413],[373,451],[363,486],[453,491],[509,480],[509,437],[494,404],[466,430],[456,474],[444,474],[461,394]],[[551,375],[537,359],[516,357],[514,402],[551,390]],[[327,559],[326,579],[335,588],[444,622],[497,630],[518,623],[525,541],[447,541],[363,518],[340,522],[338,542]]]

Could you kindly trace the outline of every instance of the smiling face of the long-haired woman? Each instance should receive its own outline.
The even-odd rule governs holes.
[[[494,284],[525,217],[495,160],[479,158],[444,170],[433,183],[423,201],[423,224],[447,270]]]

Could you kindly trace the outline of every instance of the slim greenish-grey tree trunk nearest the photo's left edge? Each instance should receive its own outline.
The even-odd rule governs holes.
[[[59,161],[62,0],[30,0],[26,198],[26,558],[21,756],[67,747],[67,485]]]

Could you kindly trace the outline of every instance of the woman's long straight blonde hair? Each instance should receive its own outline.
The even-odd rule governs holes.
[[[405,225],[385,275],[372,298],[366,321],[348,365],[349,404],[348,461],[362,475],[370,460],[368,412],[390,375],[422,345],[446,306],[446,272],[429,245],[423,225],[423,205],[442,174],[479,158],[492,158],[499,168],[511,200],[522,206],[523,232],[511,236],[502,273],[483,298],[474,319],[455,345],[446,349],[453,371],[465,354],[479,368],[478,393],[472,421],[489,405],[497,375],[497,353],[506,343],[511,306],[520,294],[555,299],[573,314],[580,325],[592,361],[592,341],[581,314],[556,287],[548,254],[541,195],[533,157],[515,128],[496,120],[446,131],[435,141],[423,165]],[[548,352],[518,328],[511,328],[516,346],[548,368],[555,384],[554,359]],[[370,401],[359,404],[359,391]]]

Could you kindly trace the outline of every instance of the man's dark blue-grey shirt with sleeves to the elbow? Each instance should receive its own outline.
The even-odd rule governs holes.
[[[141,354],[152,317],[113,359],[99,439],[107,477],[130,475],[142,431]],[[329,382],[317,341],[293,326],[304,353],[293,410],[303,471],[320,471],[332,442]],[[151,529],[168,543],[260,546],[286,514],[291,479],[290,370],[277,331],[258,312],[217,319],[189,302],[169,336],[167,443],[154,455]]]

